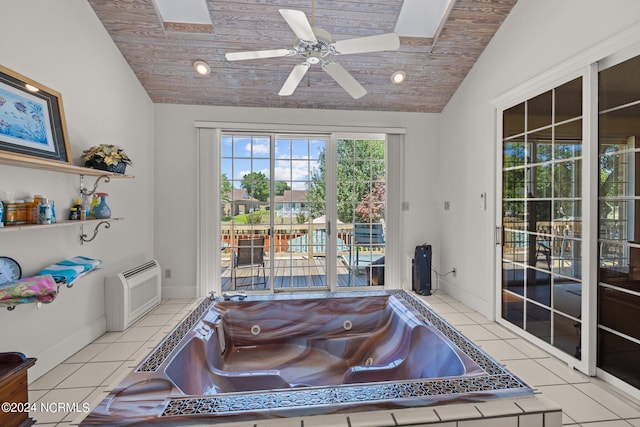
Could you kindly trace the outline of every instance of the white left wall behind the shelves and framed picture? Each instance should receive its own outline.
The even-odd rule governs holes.
[[[135,162],[127,170],[135,179],[101,187],[113,215],[125,221],[95,241],[80,245],[79,227],[0,233],[0,255],[16,259],[24,276],[76,255],[103,261],[101,270],[61,288],[51,304],[0,308],[0,351],[37,357],[33,381],[104,332],[105,275],[153,255],[153,110],[86,1],[0,0],[0,11],[0,63],[62,94],[75,164],[99,143],[123,146]],[[68,215],[78,184],[74,175],[0,164],[0,191],[44,194],[55,200],[58,217]]]

